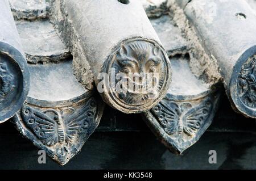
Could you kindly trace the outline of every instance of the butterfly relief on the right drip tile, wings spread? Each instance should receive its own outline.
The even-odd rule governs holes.
[[[167,134],[185,133],[189,137],[195,137],[212,110],[212,102],[207,99],[199,106],[191,107],[189,103],[178,106],[175,102],[168,103],[162,100],[152,108],[151,113],[158,118],[159,124]]]

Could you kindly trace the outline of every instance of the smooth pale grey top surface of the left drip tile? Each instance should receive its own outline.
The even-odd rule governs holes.
[[[31,85],[28,97],[43,102],[65,102],[80,98],[88,90],[76,81],[72,60],[59,64],[29,65]],[[52,90],[52,91],[51,91]]]

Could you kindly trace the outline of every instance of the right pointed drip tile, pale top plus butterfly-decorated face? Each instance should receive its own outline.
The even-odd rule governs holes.
[[[187,60],[172,60],[172,66],[174,80],[167,96],[143,113],[143,117],[168,149],[181,154],[195,144],[212,123],[220,94],[189,73]]]

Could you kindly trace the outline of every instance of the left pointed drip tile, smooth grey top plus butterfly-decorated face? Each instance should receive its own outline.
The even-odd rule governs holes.
[[[30,65],[31,87],[14,116],[16,128],[39,149],[65,165],[98,127],[103,104],[72,74],[72,61]]]

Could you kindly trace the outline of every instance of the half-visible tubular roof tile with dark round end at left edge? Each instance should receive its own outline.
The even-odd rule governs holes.
[[[9,2],[0,2],[0,123],[22,107],[30,85],[29,72]]]

